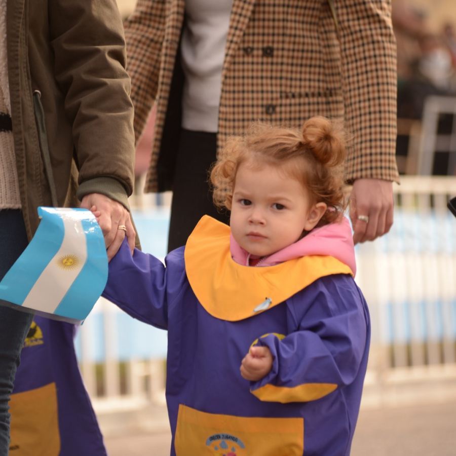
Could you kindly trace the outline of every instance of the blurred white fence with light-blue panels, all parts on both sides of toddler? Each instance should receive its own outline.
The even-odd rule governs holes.
[[[371,405],[413,391],[456,397],[456,218],[446,208],[456,178],[403,177],[394,192],[391,232],[356,247],[356,281],[372,322],[364,395]],[[140,198],[133,216],[143,250],[163,258],[169,209]],[[166,341],[165,331],[97,303],[77,351],[98,412],[163,402]]]

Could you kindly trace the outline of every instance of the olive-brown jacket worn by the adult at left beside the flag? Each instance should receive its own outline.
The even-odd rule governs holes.
[[[38,206],[102,193],[128,208],[133,106],[115,0],[7,0],[8,78],[28,237]]]

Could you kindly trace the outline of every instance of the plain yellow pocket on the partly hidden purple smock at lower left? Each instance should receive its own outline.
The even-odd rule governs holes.
[[[60,434],[55,383],[11,395],[11,456],[58,456]]]

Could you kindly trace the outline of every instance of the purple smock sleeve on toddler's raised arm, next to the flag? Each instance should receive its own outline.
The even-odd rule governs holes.
[[[158,258],[134,250],[126,240],[109,262],[103,296],[131,317],[161,329],[168,328],[168,303],[178,293],[177,277],[169,280],[168,269]],[[184,268],[180,277],[184,277]]]

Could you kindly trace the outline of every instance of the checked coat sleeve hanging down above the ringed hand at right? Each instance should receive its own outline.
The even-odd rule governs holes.
[[[348,131],[347,178],[398,181],[396,41],[391,0],[334,1]]]

